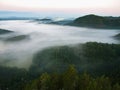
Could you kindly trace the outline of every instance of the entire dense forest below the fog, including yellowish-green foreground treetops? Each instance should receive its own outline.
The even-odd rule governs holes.
[[[28,70],[0,66],[0,90],[120,90],[120,45],[88,42],[39,51]]]

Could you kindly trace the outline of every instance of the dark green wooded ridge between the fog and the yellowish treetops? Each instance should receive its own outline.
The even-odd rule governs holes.
[[[74,64],[79,72],[120,76],[120,45],[88,42],[73,47],[62,46],[38,52],[31,73],[63,72]]]

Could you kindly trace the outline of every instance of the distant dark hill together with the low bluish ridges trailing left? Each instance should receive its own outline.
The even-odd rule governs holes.
[[[90,28],[120,29],[120,17],[103,17],[97,15],[86,15],[76,19],[64,19],[54,21],[52,19],[35,19],[39,23],[70,25]]]

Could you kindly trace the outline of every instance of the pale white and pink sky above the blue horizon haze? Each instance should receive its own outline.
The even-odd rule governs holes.
[[[0,10],[120,16],[120,0],[0,0]]]

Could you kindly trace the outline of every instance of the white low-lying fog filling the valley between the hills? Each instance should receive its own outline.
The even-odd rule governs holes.
[[[0,21],[0,28],[13,33],[0,34],[0,65],[29,67],[38,51],[57,45],[90,41],[119,43],[113,36],[118,30],[104,30],[38,24],[28,20]]]

